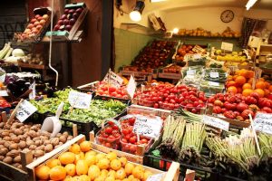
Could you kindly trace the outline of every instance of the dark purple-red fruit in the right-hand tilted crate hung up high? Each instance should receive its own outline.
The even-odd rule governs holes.
[[[61,16],[57,24],[54,25],[53,31],[68,31],[73,28],[77,18],[82,14],[83,8],[79,7],[76,9],[64,9],[64,14]]]

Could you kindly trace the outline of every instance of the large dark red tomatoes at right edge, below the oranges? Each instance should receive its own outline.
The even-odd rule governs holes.
[[[208,102],[213,105],[213,113],[223,114],[228,119],[249,121],[249,114],[255,116],[257,111],[272,113],[272,100],[260,98],[257,92],[249,96],[240,93],[218,93],[209,97]]]

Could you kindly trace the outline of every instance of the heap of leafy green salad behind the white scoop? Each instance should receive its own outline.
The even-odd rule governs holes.
[[[92,100],[90,108],[73,109],[73,111],[68,114],[71,108],[68,101],[69,92],[71,90],[72,89],[58,90],[54,92],[53,98],[31,100],[31,103],[40,113],[50,112],[54,114],[59,104],[63,101],[64,106],[61,118],[80,122],[94,122],[97,126],[101,126],[103,119],[109,119],[120,114],[126,107],[126,105],[119,100]]]

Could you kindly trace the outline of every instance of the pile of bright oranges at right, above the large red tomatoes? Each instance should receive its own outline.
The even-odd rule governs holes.
[[[228,75],[226,83],[227,91],[232,93],[242,93],[243,96],[249,96],[252,92],[257,92],[259,97],[264,98],[272,92],[272,85],[260,78],[256,81],[255,89],[252,87],[254,71],[241,69],[235,72],[235,75]]]

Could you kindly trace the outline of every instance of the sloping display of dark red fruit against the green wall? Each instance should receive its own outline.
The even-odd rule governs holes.
[[[128,71],[140,71],[146,69],[157,69],[167,65],[177,42],[154,40],[147,45],[131,62],[132,68],[124,68]]]

